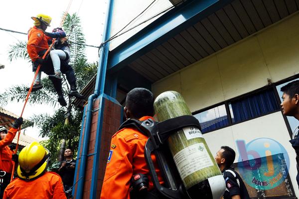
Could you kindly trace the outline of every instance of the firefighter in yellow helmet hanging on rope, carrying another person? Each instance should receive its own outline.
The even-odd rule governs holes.
[[[63,73],[66,75],[66,79],[68,83],[70,84],[70,92],[68,93],[70,96],[74,96],[79,99],[84,99],[84,96],[81,95],[77,91],[77,86],[76,86],[76,77],[73,68],[68,65],[68,60],[66,61],[61,61],[60,59],[63,59],[64,55],[58,55],[59,56],[59,61],[57,59],[57,56],[55,54],[58,54],[58,52],[54,51],[53,57],[54,57],[54,67],[53,68],[53,63],[51,59],[42,59],[42,56],[48,49],[48,41],[54,38],[64,38],[65,32],[55,32],[55,33],[45,33],[45,30],[47,26],[50,26],[52,18],[48,15],[45,14],[37,14],[36,16],[31,17],[34,20],[34,26],[29,29],[28,32],[28,42],[27,42],[27,51],[28,55],[32,60],[32,69],[33,72],[36,71],[38,65],[41,65],[41,68],[36,76],[36,79],[34,81],[34,85],[32,87],[32,92],[37,91],[41,89],[43,86],[40,82],[40,76],[41,76],[41,71],[49,75],[49,78],[51,79],[53,86],[58,94],[58,102],[60,103],[61,106],[66,106],[67,103],[63,97],[63,92],[62,92],[62,78],[57,78],[58,77],[58,70],[60,71],[60,74]],[[59,39],[59,40],[60,40]],[[61,48],[60,48],[61,49]],[[64,48],[65,50],[66,48]],[[65,59],[68,59],[65,51],[63,52],[65,54]],[[59,51],[59,54],[61,52]],[[69,54],[68,54],[69,55]],[[60,62],[57,64],[57,62]],[[60,65],[60,66],[59,66]],[[57,73],[55,73],[55,71]],[[27,91],[29,88],[27,88]]]

